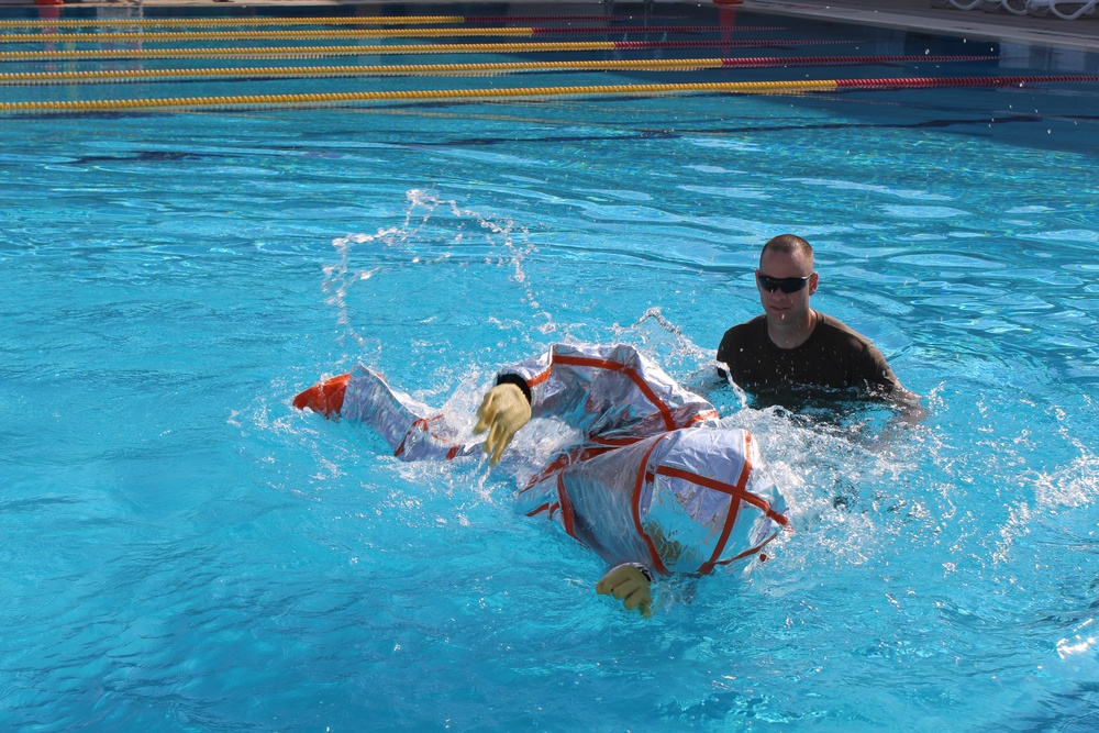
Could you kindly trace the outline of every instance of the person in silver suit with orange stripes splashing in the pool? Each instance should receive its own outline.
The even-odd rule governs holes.
[[[474,434],[357,365],[301,392],[299,409],[362,421],[402,460],[484,451],[500,462],[536,418],[580,440],[517,493],[520,511],[558,522],[611,569],[599,593],[647,615],[656,575],[706,575],[761,556],[787,525],[786,501],[751,433],[720,427],[713,407],[628,345],[557,344],[501,370]]]

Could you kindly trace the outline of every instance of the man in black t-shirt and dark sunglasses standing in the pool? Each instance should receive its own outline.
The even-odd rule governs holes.
[[[733,381],[751,392],[854,387],[907,397],[868,338],[809,307],[818,280],[813,248],[800,236],[782,234],[764,245],[756,270],[764,314],[726,331],[718,347]]]

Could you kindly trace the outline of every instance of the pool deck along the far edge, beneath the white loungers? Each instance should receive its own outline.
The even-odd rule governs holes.
[[[945,2],[945,0],[941,0]],[[446,4],[446,0],[404,0],[401,4]],[[512,4],[552,5],[545,0],[511,0]],[[713,0],[701,0],[701,3]],[[35,0],[0,0],[0,8],[16,8],[34,5]],[[66,4],[76,7],[95,5],[144,5],[177,7],[177,5],[392,5],[385,0],[67,0]],[[457,4],[457,3],[456,3]],[[464,7],[468,3],[462,3]],[[577,7],[590,4],[606,10],[613,5],[614,0],[567,0],[575,11]],[[619,3],[619,4],[640,4]],[[698,0],[651,0],[651,5],[698,5]],[[907,31],[920,31],[933,34],[954,35],[981,41],[1000,41],[1030,46],[1048,46],[1054,48],[1070,48],[1075,51],[1099,53],[1099,11],[1094,15],[1083,16],[1075,21],[1066,21],[1047,15],[1035,18],[1031,15],[1013,15],[1006,11],[985,12],[981,10],[957,10],[955,8],[939,8],[931,0],[743,0],[739,5],[730,8],[745,11],[758,11],[777,15],[799,18],[819,18],[826,21],[840,21],[862,25],[892,27]]]

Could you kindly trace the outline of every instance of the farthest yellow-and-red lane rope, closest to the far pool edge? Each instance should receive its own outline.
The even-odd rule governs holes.
[[[648,20],[685,20],[688,15],[648,16]],[[584,23],[645,20],[643,15],[352,15],[346,18],[66,18],[58,20],[0,21],[0,29],[97,27],[214,27],[263,25],[442,25],[444,23]]]

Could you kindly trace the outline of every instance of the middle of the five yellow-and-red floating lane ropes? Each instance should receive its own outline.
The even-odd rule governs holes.
[[[268,46],[256,48],[99,48],[0,52],[2,62],[114,60],[145,58],[324,58],[436,54],[546,54],[591,51],[690,51],[855,44],[859,41],[531,41],[520,43],[424,43],[386,46]]]

